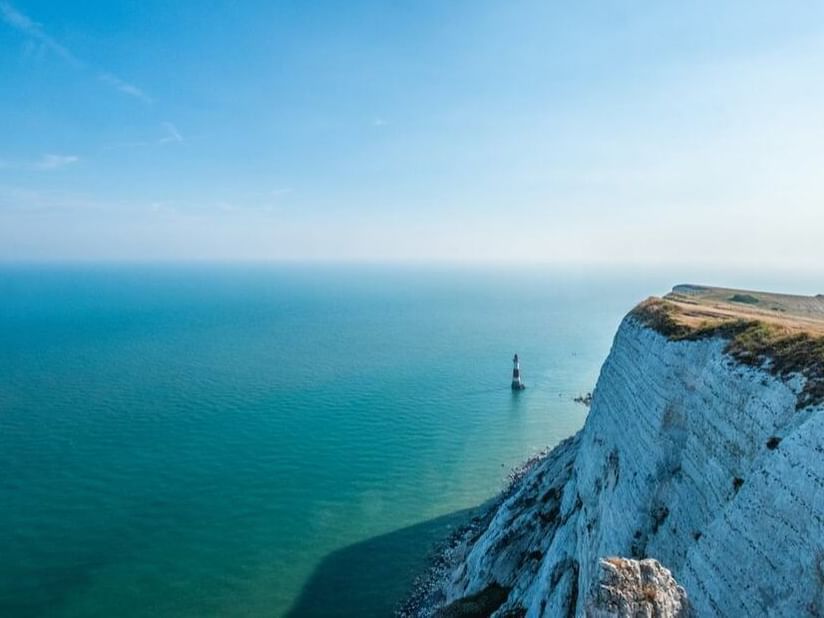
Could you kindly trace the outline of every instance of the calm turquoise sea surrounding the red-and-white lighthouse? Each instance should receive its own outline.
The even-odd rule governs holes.
[[[0,615],[386,615],[464,509],[582,425],[573,396],[662,291],[535,269],[4,267]]]

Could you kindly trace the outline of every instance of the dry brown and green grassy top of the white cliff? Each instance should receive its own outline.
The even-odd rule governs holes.
[[[824,295],[678,285],[631,315],[673,341],[727,339],[726,352],[741,363],[803,375],[799,408],[824,402]]]

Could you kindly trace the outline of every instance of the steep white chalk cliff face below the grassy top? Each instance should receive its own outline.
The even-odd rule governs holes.
[[[630,314],[584,428],[452,552],[441,607],[494,587],[496,616],[593,615],[600,559],[625,556],[671,570],[698,616],[824,615],[824,407],[727,352]]]

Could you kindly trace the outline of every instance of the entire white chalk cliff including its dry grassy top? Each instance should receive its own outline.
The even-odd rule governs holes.
[[[406,614],[824,616],[824,297],[641,303],[584,428],[442,564]]]

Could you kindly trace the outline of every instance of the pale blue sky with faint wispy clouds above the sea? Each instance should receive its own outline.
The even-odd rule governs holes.
[[[824,3],[0,0],[0,260],[824,272]]]

